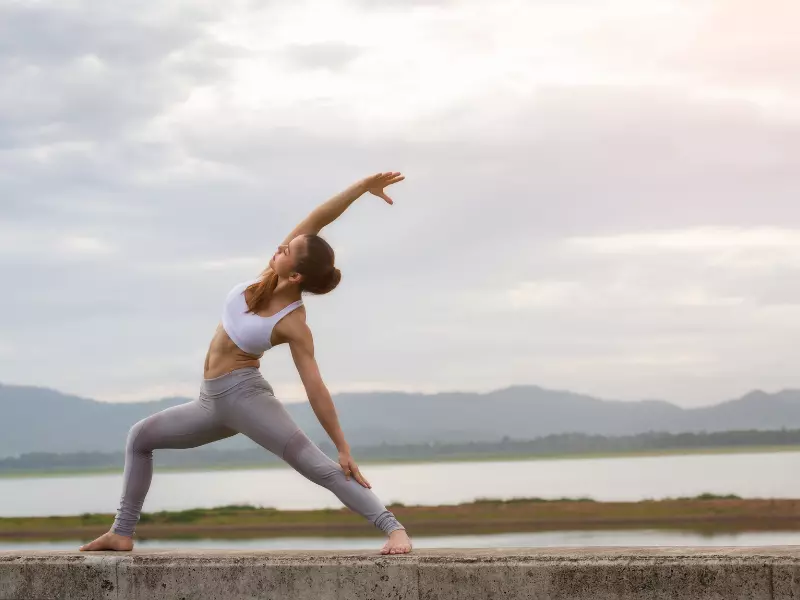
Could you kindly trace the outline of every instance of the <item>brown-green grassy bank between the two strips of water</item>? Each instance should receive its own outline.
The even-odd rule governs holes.
[[[595,502],[590,499],[482,499],[445,506],[390,505],[412,535],[523,531],[661,529],[703,534],[797,531],[800,499],[696,498]],[[3,540],[92,539],[107,531],[113,514],[0,518]],[[359,515],[342,509],[286,511],[221,506],[144,513],[138,539],[245,539],[297,536],[380,536]]]

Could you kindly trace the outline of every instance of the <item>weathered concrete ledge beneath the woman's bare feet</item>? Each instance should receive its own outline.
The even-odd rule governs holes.
[[[800,546],[0,552],[0,599],[800,600]]]

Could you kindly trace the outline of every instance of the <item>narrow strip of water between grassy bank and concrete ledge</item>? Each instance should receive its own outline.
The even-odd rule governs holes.
[[[412,533],[413,535],[413,533]],[[699,535],[680,531],[549,531],[493,535],[413,535],[415,548],[542,548],[554,546],[789,546],[800,543],[800,533],[752,532]],[[75,550],[87,540],[58,542],[3,542],[0,551]],[[145,540],[136,548],[212,550],[377,550],[383,539],[271,538],[251,540]]]

